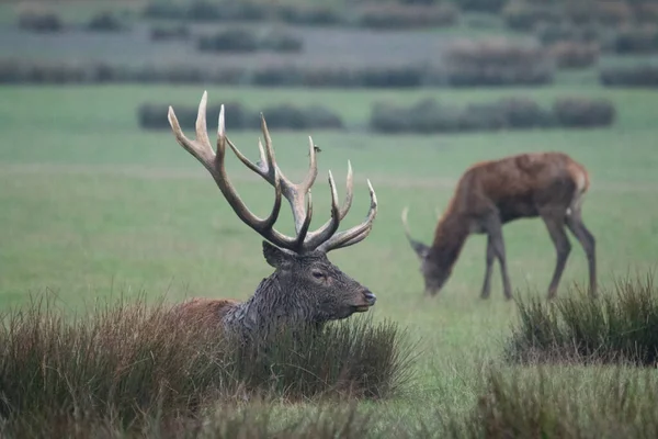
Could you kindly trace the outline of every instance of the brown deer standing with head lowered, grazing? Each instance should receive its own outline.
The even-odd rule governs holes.
[[[477,233],[487,234],[487,264],[480,296],[489,297],[491,267],[494,258],[498,258],[504,296],[511,299],[502,226],[518,218],[540,216],[557,251],[548,297],[554,297],[557,292],[571,250],[565,225],[585,249],[590,293],[595,296],[595,241],[581,215],[582,196],[588,188],[589,176],[585,167],[561,153],[521,154],[476,164],[457,182],[447,211],[436,225],[431,246],[411,237],[407,224],[408,209],[405,207],[402,225],[407,239],[421,260],[426,293],[434,295],[441,290],[466,238]]]

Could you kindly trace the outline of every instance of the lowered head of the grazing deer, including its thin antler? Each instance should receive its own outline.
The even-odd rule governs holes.
[[[447,281],[447,278],[450,278],[453,264],[449,260],[444,260],[444,252],[436,251],[433,247],[411,237],[409,224],[407,223],[408,212],[409,210],[407,207],[402,211],[405,235],[416,252],[416,256],[418,256],[418,259],[420,260],[420,272],[424,279],[426,294],[435,295],[441,291],[443,284]]]

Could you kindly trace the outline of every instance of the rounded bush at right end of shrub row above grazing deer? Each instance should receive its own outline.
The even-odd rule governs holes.
[[[553,112],[557,123],[564,127],[608,126],[616,116],[614,105],[606,99],[557,99]]]

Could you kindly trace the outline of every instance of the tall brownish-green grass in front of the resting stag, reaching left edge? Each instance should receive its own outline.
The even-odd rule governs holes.
[[[256,395],[379,398],[409,379],[410,345],[390,323],[352,318],[318,334],[283,331],[259,351],[167,312],[140,301],[65,318],[46,300],[5,313],[0,428],[67,414],[138,431],[145,415],[192,420],[204,407]]]

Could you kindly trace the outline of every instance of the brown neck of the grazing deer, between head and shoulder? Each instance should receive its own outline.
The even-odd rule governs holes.
[[[434,240],[430,248],[431,259],[442,268],[451,270],[469,234],[466,218],[455,211],[447,211],[436,225]]]

